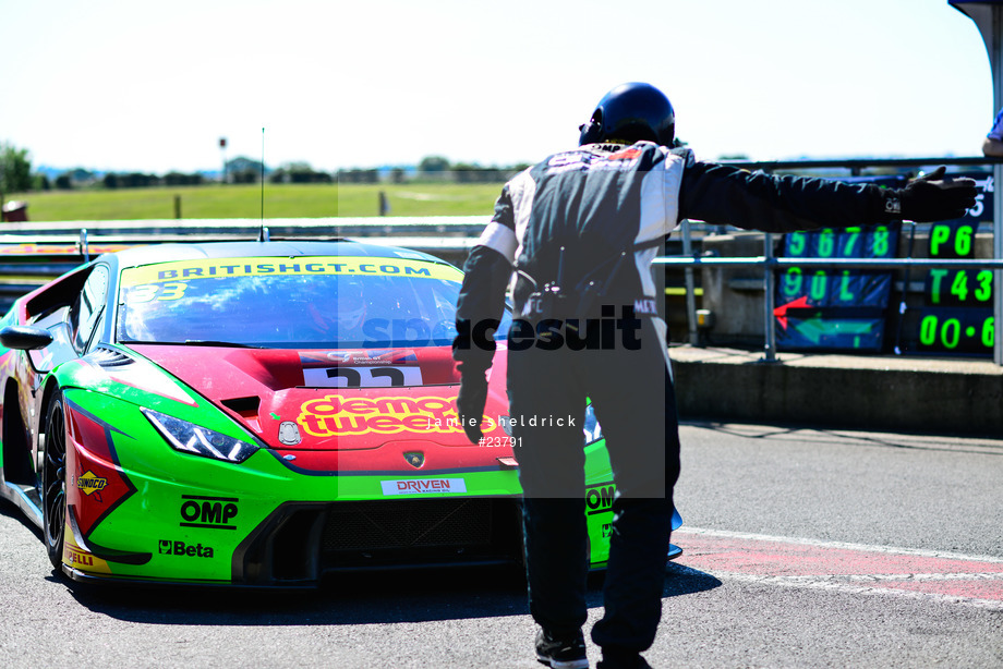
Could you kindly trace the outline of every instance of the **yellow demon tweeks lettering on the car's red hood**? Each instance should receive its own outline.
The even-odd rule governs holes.
[[[329,394],[300,406],[297,423],[314,437],[366,433],[462,433],[455,398],[345,398]]]

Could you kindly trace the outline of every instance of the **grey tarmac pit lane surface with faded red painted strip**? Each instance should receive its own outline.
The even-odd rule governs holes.
[[[656,668],[1003,666],[1003,440],[682,425]],[[319,592],[87,588],[0,503],[0,664],[539,668],[525,592],[497,571]],[[589,589],[585,632],[602,616]],[[588,642],[593,662],[600,649]]]

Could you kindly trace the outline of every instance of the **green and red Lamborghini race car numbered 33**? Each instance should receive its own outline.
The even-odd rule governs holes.
[[[299,587],[518,563],[504,341],[485,440],[457,419],[461,280],[350,241],[104,254],[0,320],[0,496],[78,581]],[[602,568],[613,477],[591,411],[582,431]]]

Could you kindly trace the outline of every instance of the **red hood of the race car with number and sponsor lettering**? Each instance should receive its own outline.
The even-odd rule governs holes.
[[[295,452],[353,454],[384,447],[401,454],[448,449],[452,466],[497,464],[503,450],[472,447],[458,424],[459,375],[448,346],[383,350],[278,350],[130,345],[212,401],[267,446]],[[505,438],[505,355],[492,367],[485,436]],[[459,449],[457,447],[470,447]],[[459,451],[471,451],[461,455]],[[490,452],[487,452],[490,451]],[[373,453],[370,453],[371,455]],[[373,465],[367,459],[368,466]],[[327,465],[325,466],[327,469]],[[349,469],[357,469],[349,466]]]

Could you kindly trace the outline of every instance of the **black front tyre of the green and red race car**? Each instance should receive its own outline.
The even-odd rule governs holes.
[[[43,532],[49,561],[62,568],[63,533],[67,526],[67,412],[57,391],[46,415],[41,469]]]

